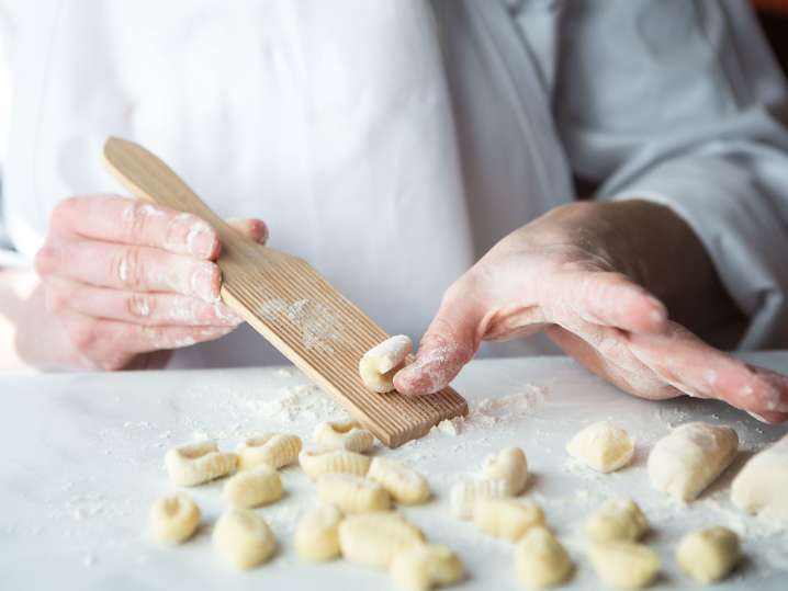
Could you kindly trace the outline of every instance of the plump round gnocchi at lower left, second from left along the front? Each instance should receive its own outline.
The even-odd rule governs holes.
[[[277,541],[260,515],[248,509],[229,509],[214,525],[213,545],[226,562],[243,570],[268,560]]]

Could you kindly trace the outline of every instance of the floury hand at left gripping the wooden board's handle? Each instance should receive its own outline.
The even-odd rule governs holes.
[[[230,223],[264,243],[259,219]],[[219,300],[216,231],[192,214],[116,195],[69,197],[35,258],[67,365],[122,370],[224,337],[241,319]]]

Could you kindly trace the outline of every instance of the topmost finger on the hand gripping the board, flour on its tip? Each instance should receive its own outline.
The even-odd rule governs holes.
[[[52,230],[70,239],[155,247],[199,259],[215,259],[216,231],[193,214],[117,195],[87,195],[61,201],[52,213]]]

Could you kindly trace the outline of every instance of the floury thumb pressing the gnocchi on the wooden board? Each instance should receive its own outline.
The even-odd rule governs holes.
[[[397,391],[416,396],[448,386],[479,349],[483,309],[472,294],[451,287],[421,339],[416,360],[394,376]]]

